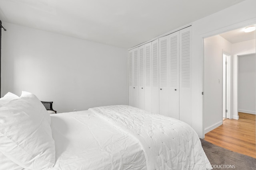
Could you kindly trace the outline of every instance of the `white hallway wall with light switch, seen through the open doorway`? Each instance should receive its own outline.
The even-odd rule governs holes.
[[[220,35],[204,39],[204,133],[222,125],[223,52],[232,44]]]

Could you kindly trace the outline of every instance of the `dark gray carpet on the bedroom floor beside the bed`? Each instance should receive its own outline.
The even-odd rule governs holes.
[[[214,170],[256,170],[255,158],[218,147],[203,139],[200,140],[210,163],[216,167]]]

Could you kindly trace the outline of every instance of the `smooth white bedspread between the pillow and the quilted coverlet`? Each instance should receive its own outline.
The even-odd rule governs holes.
[[[56,164],[50,170],[146,170],[140,143],[90,111],[51,115]]]

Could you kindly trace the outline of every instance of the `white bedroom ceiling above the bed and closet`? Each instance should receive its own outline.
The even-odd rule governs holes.
[[[0,20],[128,49],[242,1],[0,0]]]

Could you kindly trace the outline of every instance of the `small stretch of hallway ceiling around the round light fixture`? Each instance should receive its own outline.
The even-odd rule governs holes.
[[[248,25],[248,26],[251,26],[251,25]],[[256,38],[256,31],[245,33],[244,29],[245,27],[228,31],[226,33],[220,34],[220,36],[222,36],[224,39],[228,40],[232,44],[240,43],[242,41],[248,41]]]

